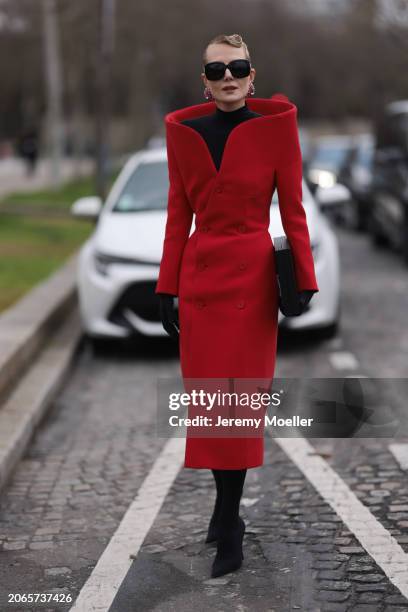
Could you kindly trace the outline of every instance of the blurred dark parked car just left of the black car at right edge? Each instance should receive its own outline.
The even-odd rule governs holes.
[[[370,133],[354,136],[337,178],[350,190],[344,216],[358,231],[367,228],[371,214],[374,144],[374,136]]]

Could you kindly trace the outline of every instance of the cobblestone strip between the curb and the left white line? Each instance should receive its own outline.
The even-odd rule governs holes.
[[[83,351],[0,497],[1,612],[7,593],[80,590],[165,442],[154,376],[177,372],[174,348],[113,355]]]

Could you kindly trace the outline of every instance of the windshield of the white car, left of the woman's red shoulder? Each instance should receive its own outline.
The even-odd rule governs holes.
[[[167,160],[142,162],[129,177],[112,211],[164,210],[168,189]]]

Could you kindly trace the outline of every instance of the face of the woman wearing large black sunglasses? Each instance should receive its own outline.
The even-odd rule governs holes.
[[[207,47],[207,62],[228,64],[234,59],[246,59],[245,50],[223,43],[213,43]],[[219,81],[209,81],[204,72],[201,73],[201,78],[204,85],[211,91],[218,107],[222,110],[234,110],[244,104],[250,82],[255,78],[255,68],[251,68],[250,74],[243,79],[234,78],[229,68]],[[225,89],[226,87],[234,87],[234,89]]]

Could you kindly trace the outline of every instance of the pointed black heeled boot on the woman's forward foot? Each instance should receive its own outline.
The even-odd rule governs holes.
[[[218,578],[239,569],[244,559],[242,541],[245,533],[245,522],[239,517],[234,529],[220,533],[217,543],[217,554],[213,561],[211,578]]]

